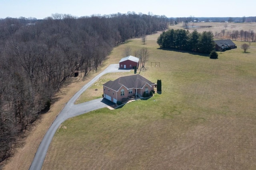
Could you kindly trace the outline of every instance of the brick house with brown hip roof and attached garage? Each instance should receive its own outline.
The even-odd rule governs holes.
[[[116,103],[135,95],[142,96],[144,92],[150,93],[154,90],[155,83],[150,82],[140,74],[120,77],[114,81],[103,84],[104,98]]]

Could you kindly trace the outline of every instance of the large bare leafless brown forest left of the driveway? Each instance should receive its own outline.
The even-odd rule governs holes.
[[[0,19],[0,162],[68,77],[86,77],[115,45],[167,24],[166,16],[135,13]]]

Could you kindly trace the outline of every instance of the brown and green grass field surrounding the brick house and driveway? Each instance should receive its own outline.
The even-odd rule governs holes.
[[[223,23],[196,24],[212,25],[198,28],[199,32],[224,29]],[[227,30],[253,30],[255,25],[231,23]],[[156,44],[159,34],[148,36],[146,45],[131,39],[116,47],[100,69],[118,63],[127,46],[132,50],[148,47],[150,59],[141,74],[152,82],[161,79],[162,94],[65,121],[42,169],[256,169],[256,43],[243,53],[241,42],[234,41],[238,49],[219,53],[219,59],[211,60],[160,50]],[[150,67],[151,62],[160,62],[160,67]],[[29,168],[42,137],[64,104],[99,72],[84,82],[70,80],[56,94],[50,111],[4,162],[5,170]],[[103,76],[79,100],[98,98],[102,83],[125,74]],[[95,88],[99,89],[93,91],[97,94],[88,95]]]

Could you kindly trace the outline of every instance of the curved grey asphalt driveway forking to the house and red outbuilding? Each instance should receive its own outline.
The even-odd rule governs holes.
[[[44,135],[44,138],[42,142],[40,143],[34,160],[30,165],[30,170],[41,170],[42,165],[44,163],[44,158],[46,156],[47,150],[50,146],[50,143],[52,141],[52,138],[57,131],[58,127],[62,122],[64,122],[66,119],[69,119],[70,117],[74,117],[77,115],[81,115],[84,113],[87,113],[92,110],[100,109],[103,107],[107,107],[112,102],[105,100],[104,98],[91,100],[89,102],[84,102],[82,104],[75,105],[74,102],[78,99],[78,97],[88,88],[90,87],[94,82],[96,82],[102,75],[109,73],[109,72],[129,72],[130,70],[118,70],[118,64],[110,64],[104,71],[102,71],[100,74],[98,74],[96,77],[94,77],[90,82],[88,82],[86,85],[84,85],[76,94],[66,103],[66,106],[60,111],[59,115],[56,117],[46,134]]]

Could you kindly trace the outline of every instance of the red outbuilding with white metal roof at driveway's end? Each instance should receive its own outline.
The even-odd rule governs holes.
[[[119,69],[133,69],[134,66],[139,67],[140,59],[133,56],[124,57],[119,61]]]

